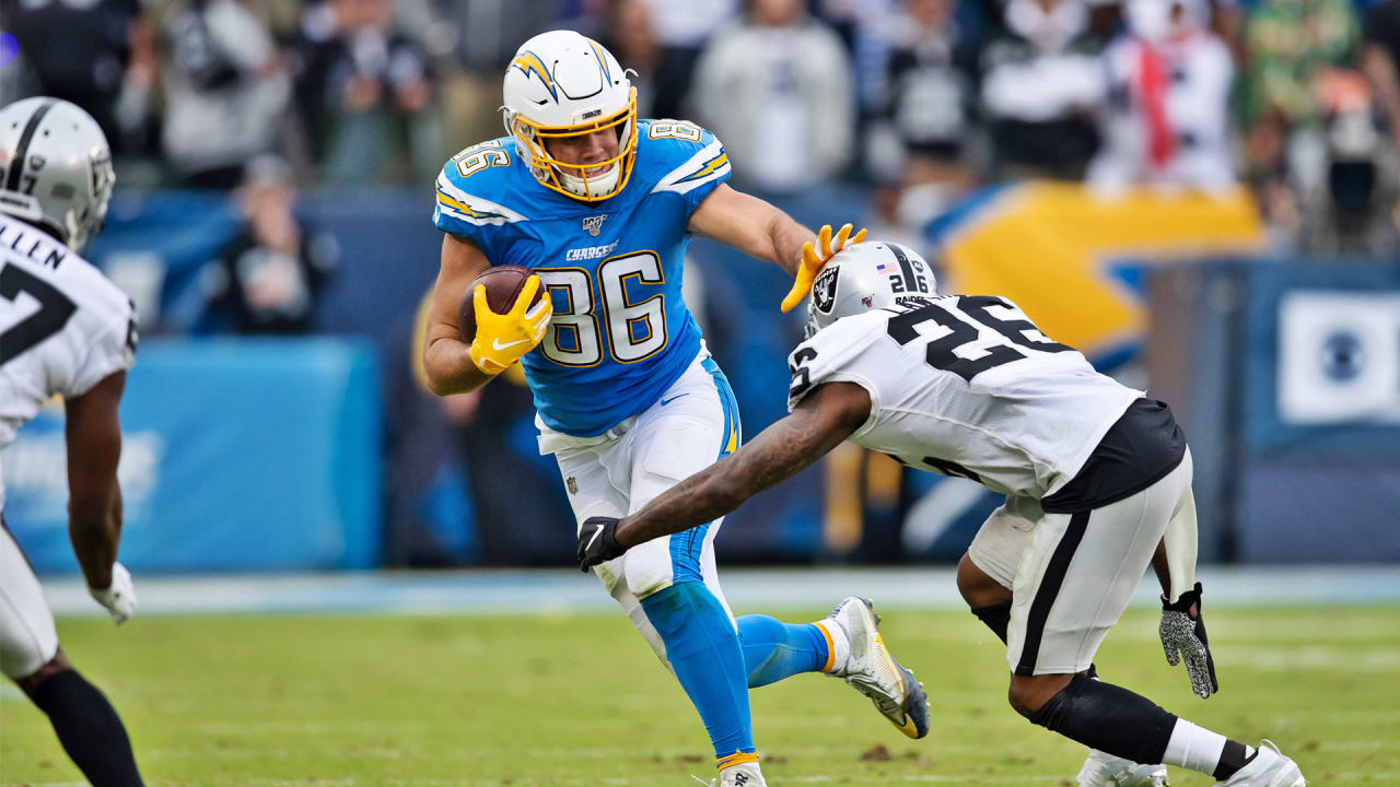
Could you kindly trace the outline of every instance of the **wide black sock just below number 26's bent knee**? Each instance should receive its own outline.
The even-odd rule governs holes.
[[[1162,762],[1176,717],[1133,692],[1075,675],[1030,717],[1091,749],[1144,765]]]

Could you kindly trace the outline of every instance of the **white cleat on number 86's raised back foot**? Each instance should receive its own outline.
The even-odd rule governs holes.
[[[924,685],[914,679],[885,648],[879,636],[879,618],[868,599],[850,597],[826,616],[846,633],[850,654],[846,664],[830,675],[844,678],[857,692],[875,703],[875,709],[910,738],[928,735],[928,697]]]

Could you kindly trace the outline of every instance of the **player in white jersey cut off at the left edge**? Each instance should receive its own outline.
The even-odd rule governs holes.
[[[73,552],[92,598],[122,623],[136,591],[116,562],[118,403],[136,358],[136,314],[81,258],[102,228],[112,182],[106,137],[83,109],[55,98],[0,109],[0,448],[50,396],[63,398]],[[0,485],[0,521],[3,510]],[[88,781],[141,784],[122,720],[69,664],[39,580],[3,529],[0,671],[48,714]]]

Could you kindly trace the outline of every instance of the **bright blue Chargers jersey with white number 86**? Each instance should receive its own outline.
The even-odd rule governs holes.
[[[592,437],[657,402],[700,351],[680,297],[690,213],[729,179],[724,146],[682,120],[638,120],[626,188],[585,203],[546,189],[511,137],[469,147],[437,179],[433,223],[491,265],[539,274],[554,318],[521,364],[545,424]]]

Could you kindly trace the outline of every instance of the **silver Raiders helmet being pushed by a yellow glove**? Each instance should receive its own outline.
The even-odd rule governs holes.
[[[806,302],[806,337],[853,314],[938,294],[934,269],[899,244],[846,246],[822,266]]]

